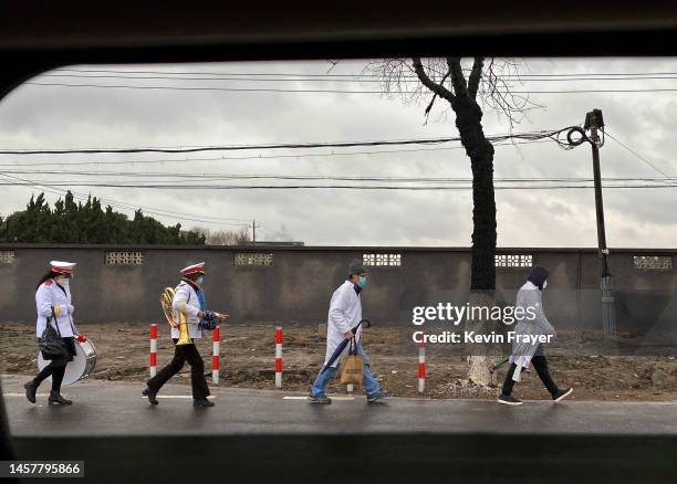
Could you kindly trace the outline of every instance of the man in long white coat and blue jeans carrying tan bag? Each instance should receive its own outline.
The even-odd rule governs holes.
[[[338,345],[345,339],[355,339],[357,353],[362,355],[364,364],[363,387],[368,402],[387,398],[388,392],[383,390],[374,376],[369,360],[362,348],[362,327],[355,327],[362,320],[362,302],[360,293],[366,287],[366,269],[360,261],[353,261],[348,267],[348,277],[332,295],[326,322],[326,354],[324,365],[315,378],[315,382],[308,396],[311,403],[329,404],[332,400],[325,394],[326,385],[338,371],[340,359],[330,364],[330,359]],[[350,345],[341,356],[347,354]]]

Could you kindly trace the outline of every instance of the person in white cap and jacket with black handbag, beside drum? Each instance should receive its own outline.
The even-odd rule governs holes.
[[[54,359],[44,367],[35,378],[27,382],[25,397],[31,403],[35,403],[35,393],[40,383],[52,377],[52,391],[48,402],[50,406],[70,406],[73,402],[61,394],[61,383],[69,361],[75,356],[75,338],[84,340],[73,323],[75,307],[71,303],[70,281],[73,277],[74,262],[51,261],[50,271],[44,274],[38,283],[35,292],[35,307],[38,309],[38,322],[35,336],[42,337],[46,325],[50,324],[58,330],[63,339],[67,355],[63,359]]]

